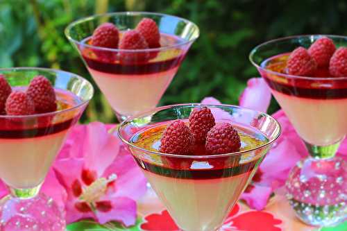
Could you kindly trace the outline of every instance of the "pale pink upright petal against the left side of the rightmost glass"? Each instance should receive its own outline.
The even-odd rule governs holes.
[[[263,78],[251,78],[239,97],[239,105],[261,112],[266,112],[271,101],[271,92]]]

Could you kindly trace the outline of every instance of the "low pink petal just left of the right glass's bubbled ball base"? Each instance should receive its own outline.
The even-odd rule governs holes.
[[[251,191],[241,195],[242,200],[246,200],[247,205],[253,209],[262,210],[266,206],[273,189],[269,186],[254,184]]]

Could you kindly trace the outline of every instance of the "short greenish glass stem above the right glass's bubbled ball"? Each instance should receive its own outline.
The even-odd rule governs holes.
[[[339,142],[336,142],[335,144],[326,146],[309,144],[307,142],[305,142],[305,145],[311,157],[314,157],[315,159],[329,159],[335,156],[342,140],[343,139],[341,139]]]

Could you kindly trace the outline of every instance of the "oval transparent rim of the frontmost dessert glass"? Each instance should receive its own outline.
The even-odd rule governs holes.
[[[130,121],[133,121],[134,119],[138,119],[140,117],[148,117],[152,114],[154,114],[155,112],[159,112],[162,110],[166,110],[169,108],[176,108],[176,107],[182,107],[182,106],[206,106],[208,108],[236,108],[237,110],[244,110],[244,111],[248,111],[248,112],[256,112],[259,115],[262,115],[264,117],[268,117],[270,119],[272,119],[273,121],[275,121],[276,126],[278,127],[278,131],[277,134],[274,135],[273,137],[271,137],[271,139],[269,139],[268,142],[266,142],[266,144],[262,144],[260,146],[255,146],[254,148],[250,148],[250,149],[246,149],[244,151],[238,151],[238,152],[233,152],[233,153],[224,153],[224,154],[217,154],[217,155],[176,155],[176,154],[169,154],[169,153],[160,153],[157,151],[149,151],[145,148],[141,148],[139,146],[136,146],[135,144],[132,144],[130,142],[128,142],[128,140],[124,139],[124,137],[121,136],[121,129],[124,128],[124,126],[126,126],[126,124],[130,123]],[[147,112],[142,112],[140,114],[137,114],[133,117],[129,117],[127,118],[125,121],[123,121],[117,128],[117,135],[118,137],[121,139],[122,142],[124,142],[125,144],[127,144],[128,146],[131,146],[133,148],[136,148],[139,151],[143,151],[145,153],[151,153],[154,155],[160,155],[160,156],[165,156],[165,157],[176,157],[176,158],[188,158],[188,159],[208,159],[208,158],[218,158],[218,157],[229,157],[229,156],[234,156],[234,155],[242,155],[245,153],[250,153],[252,151],[258,150],[260,148],[264,148],[266,146],[269,146],[270,144],[272,144],[273,142],[275,142],[278,137],[280,137],[282,128],[280,126],[280,123],[278,123],[278,121],[271,117],[269,114],[266,114],[264,112],[260,112],[257,110],[251,110],[248,108],[242,108],[236,105],[228,105],[228,104],[219,104],[219,105],[212,105],[212,104],[203,104],[203,103],[183,103],[183,104],[175,104],[175,105],[167,105],[167,106],[162,106],[162,107],[158,107],[158,108],[154,108],[153,110],[149,110]]]

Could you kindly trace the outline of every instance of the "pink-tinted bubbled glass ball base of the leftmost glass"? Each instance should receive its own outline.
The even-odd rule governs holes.
[[[44,194],[29,199],[7,196],[1,200],[1,231],[65,231],[65,226],[64,213]]]

